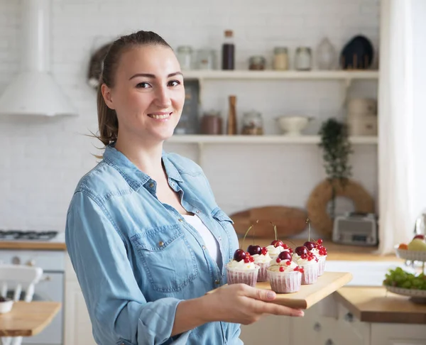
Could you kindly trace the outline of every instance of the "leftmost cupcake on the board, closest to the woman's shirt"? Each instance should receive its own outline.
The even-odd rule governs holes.
[[[226,278],[229,285],[244,283],[255,287],[258,271],[259,266],[255,265],[253,256],[242,249],[237,249],[234,260],[226,264]]]

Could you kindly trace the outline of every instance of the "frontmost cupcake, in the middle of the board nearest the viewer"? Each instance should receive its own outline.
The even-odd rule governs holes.
[[[277,258],[271,261],[267,270],[271,290],[277,293],[290,293],[300,290],[303,268],[297,266],[291,259],[288,260],[288,256],[291,258],[291,254],[288,252],[280,253]]]

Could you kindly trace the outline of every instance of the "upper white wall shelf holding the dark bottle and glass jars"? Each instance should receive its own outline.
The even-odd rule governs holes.
[[[187,70],[182,73],[188,80],[378,80],[378,70]]]

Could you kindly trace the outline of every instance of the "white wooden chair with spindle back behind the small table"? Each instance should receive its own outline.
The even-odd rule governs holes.
[[[0,265],[0,292],[3,297],[10,297],[13,301],[23,300],[31,302],[34,295],[34,286],[40,281],[43,269],[24,265]],[[11,295],[12,292],[12,296]],[[20,345],[22,336],[1,337],[3,345]]]

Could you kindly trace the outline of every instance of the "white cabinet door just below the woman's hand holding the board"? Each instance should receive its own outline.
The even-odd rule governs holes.
[[[244,345],[287,345],[290,341],[289,322],[289,317],[275,315],[262,317],[254,324],[241,325],[240,339],[244,341]]]

